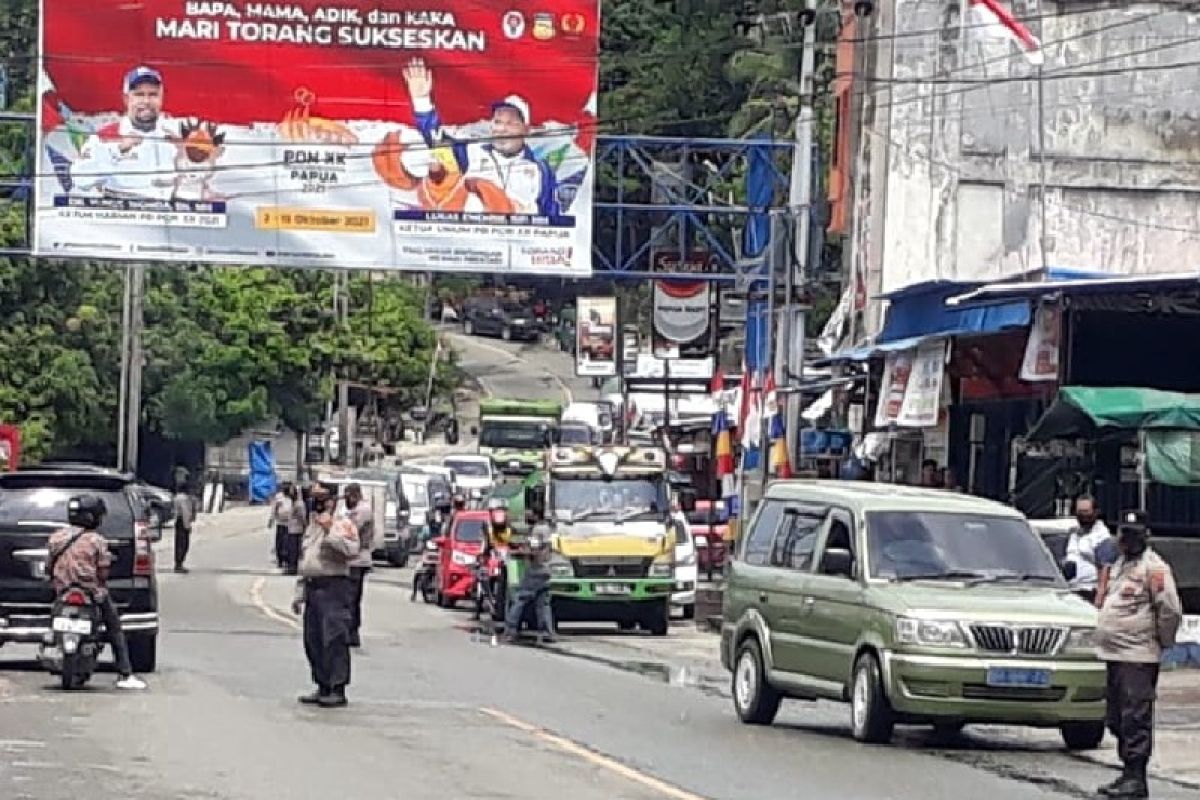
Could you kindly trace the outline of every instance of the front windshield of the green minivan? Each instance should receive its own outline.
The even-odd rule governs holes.
[[[866,513],[870,575],[893,581],[1037,581],[1062,576],[1024,519],[931,511]]]

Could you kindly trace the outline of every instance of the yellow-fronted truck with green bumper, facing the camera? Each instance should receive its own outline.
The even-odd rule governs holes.
[[[664,450],[553,447],[526,506],[550,530],[557,621],[667,633],[676,545],[685,533],[672,512]]]

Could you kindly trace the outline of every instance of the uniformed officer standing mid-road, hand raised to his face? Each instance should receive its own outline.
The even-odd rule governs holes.
[[[322,486],[313,488],[313,516],[300,552],[300,579],[292,610],[304,613],[304,650],[317,691],[306,705],[346,705],[350,682],[350,563],[359,554],[359,536],[349,519],[334,516],[336,499]]]

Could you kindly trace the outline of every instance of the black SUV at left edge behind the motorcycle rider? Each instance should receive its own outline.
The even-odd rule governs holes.
[[[108,585],[121,613],[134,672],[157,666],[158,584],[149,511],[133,475],[53,465],[0,474],[0,645],[40,644],[50,628],[54,589],[46,575],[47,542],[66,524],[67,500],[95,494],[108,507],[100,533],[113,566]]]

